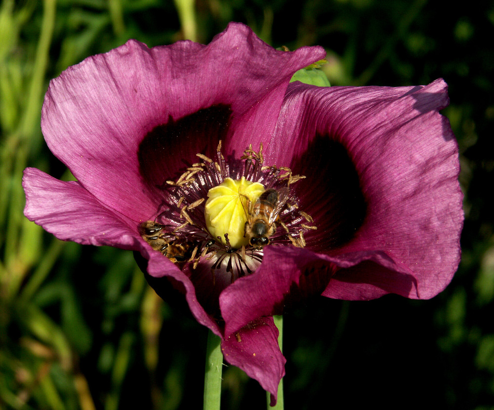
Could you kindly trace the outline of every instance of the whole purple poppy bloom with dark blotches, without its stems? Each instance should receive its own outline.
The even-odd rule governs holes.
[[[155,289],[181,290],[273,403],[285,358],[272,315],[311,294],[430,298],[460,256],[445,82],[288,83],[324,56],[274,50],[234,23],[206,46],[128,41],[46,93],[46,143],[78,181],[24,174],[30,220],[140,252]]]

